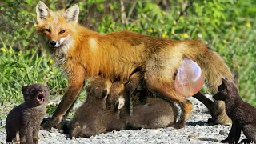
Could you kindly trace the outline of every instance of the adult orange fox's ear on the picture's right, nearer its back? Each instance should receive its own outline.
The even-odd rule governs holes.
[[[74,4],[70,8],[66,10],[66,19],[70,22],[78,22],[78,15],[79,15],[79,6],[78,4]]]

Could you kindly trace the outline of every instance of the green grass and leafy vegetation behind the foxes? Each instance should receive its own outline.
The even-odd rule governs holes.
[[[0,2],[0,118],[6,117],[10,108],[22,102],[23,85],[38,82],[49,86],[51,99],[56,99],[57,103],[65,92],[66,76],[53,66],[53,60],[34,33],[37,2]],[[238,74],[242,98],[256,106],[254,0],[43,2],[51,10],[78,3],[81,11],[79,22],[99,33],[132,30],[176,40],[200,39],[221,54],[231,70]],[[85,91],[80,95],[82,100]],[[48,107],[48,112],[52,113],[53,109],[54,104]]]

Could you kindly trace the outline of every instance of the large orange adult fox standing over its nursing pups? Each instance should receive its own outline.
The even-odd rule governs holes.
[[[67,10],[51,11],[41,1],[36,6],[37,31],[55,62],[68,74],[66,94],[45,128],[56,126],[72,106],[86,77],[102,75],[112,81],[126,82],[136,70],[143,72],[147,88],[182,108],[181,127],[192,110],[192,103],[174,90],[174,74],[182,58],[190,58],[202,68],[206,83],[216,93],[221,78],[233,81],[228,66],[219,54],[198,40],[174,41],[130,31],[98,34],[78,24],[77,4]],[[214,119],[230,123],[224,103],[215,102]]]

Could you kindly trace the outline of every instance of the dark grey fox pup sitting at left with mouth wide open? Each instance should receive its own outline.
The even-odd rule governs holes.
[[[32,84],[22,87],[24,103],[14,107],[6,118],[6,143],[12,143],[19,133],[21,144],[38,143],[38,132],[50,94],[46,86]]]

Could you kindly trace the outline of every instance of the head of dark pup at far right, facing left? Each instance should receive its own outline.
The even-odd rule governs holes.
[[[218,86],[217,94],[214,94],[214,99],[226,101],[226,99],[239,97],[238,88],[233,82],[226,78],[222,78],[222,84]]]

